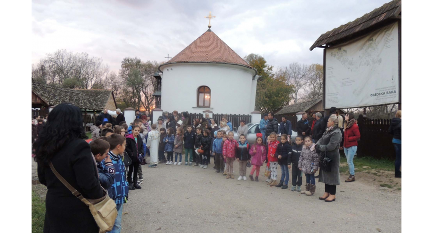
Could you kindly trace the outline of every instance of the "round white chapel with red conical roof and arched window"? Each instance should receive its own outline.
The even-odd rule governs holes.
[[[254,111],[257,71],[210,29],[158,67],[157,111]]]

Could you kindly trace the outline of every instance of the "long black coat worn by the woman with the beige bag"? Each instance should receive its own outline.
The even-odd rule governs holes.
[[[57,152],[51,162],[56,171],[84,198],[99,199],[104,196],[97,166],[86,141],[75,139]],[[39,182],[48,189],[44,233],[98,233],[89,207],[72,195],[50,167],[38,163],[37,175]]]

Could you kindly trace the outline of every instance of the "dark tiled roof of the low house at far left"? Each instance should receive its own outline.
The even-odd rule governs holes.
[[[71,103],[82,109],[103,110],[109,100],[111,90],[99,89],[66,89],[51,87],[32,82],[32,91],[49,106]]]

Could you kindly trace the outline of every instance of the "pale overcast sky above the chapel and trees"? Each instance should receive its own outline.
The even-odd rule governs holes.
[[[211,29],[242,58],[322,63],[323,49],[309,51],[322,33],[389,1],[33,0],[32,63],[58,49],[103,58],[111,70],[125,57],[164,61],[208,29],[210,11]]]

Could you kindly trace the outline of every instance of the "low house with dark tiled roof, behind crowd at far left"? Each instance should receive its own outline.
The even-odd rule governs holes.
[[[67,89],[32,82],[32,108],[48,110],[50,106],[71,103],[84,114],[116,110],[113,91],[102,89]]]

